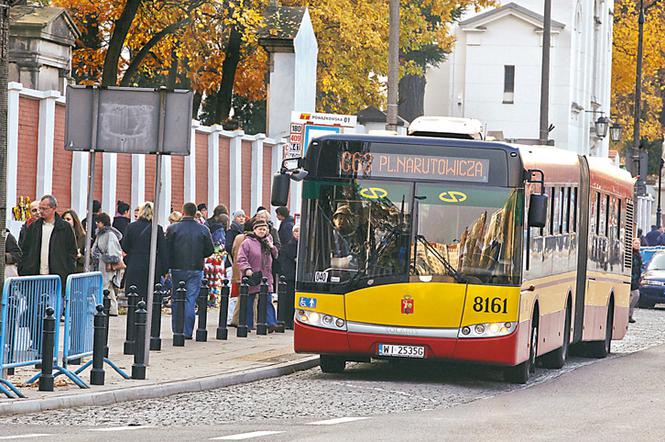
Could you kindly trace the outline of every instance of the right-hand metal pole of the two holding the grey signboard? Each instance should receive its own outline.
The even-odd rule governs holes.
[[[146,304],[148,307],[146,330],[150,330],[152,322],[152,298],[155,290],[155,269],[157,267],[157,233],[159,232],[159,211],[162,193],[162,152],[164,150],[164,134],[166,133],[166,88],[159,90],[159,138],[157,144],[157,167],[155,168],[155,196],[152,213],[152,232],[150,234],[150,267],[148,269],[148,293]],[[145,352],[145,365],[150,362],[150,333],[146,333],[143,345]]]

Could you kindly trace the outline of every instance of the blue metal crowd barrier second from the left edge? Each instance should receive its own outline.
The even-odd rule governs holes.
[[[65,287],[65,330],[62,366],[92,355],[95,307],[103,302],[101,272],[69,275]]]

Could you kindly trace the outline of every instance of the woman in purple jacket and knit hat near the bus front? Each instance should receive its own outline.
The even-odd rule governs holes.
[[[277,258],[277,247],[272,243],[272,239],[268,233],[270,232],[268,223],[262,219],[257,219],[252,225],[252,233],[245,235],[245,240],[238,249],[238,257],[236,259],[238,270],[242,276],[254,279],[257,282],[255,274],[260,272],[261,277],[268,278],[268,293],[273,292],[273,278],[272,278],[272,261]],[[254,278],[252,278],[254,275]],[[256,294],[260,290],[260,284],[250,285],[249,299],[247,308],[247,327],[254,328],[254,311],[251,306],[254,305]],[[270,299],[270,298],[269,298]],[[276,325],[275,310],[272,302],[268,302],[268,325],[270,330],[274,331]]]

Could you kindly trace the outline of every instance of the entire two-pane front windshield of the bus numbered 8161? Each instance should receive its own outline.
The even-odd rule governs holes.
[[[517,284],[520,195],[445,183],[305,181],[300,289],[345,293],[414,278]]]

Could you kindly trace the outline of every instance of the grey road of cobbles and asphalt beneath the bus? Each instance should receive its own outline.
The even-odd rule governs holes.
[[[539,369],[527,386],[452,364],[356,364],[113,407],[0,419],[0,441],[662,440],[665,311],[639,311],[615,354]],[[275,432],[275,433],[271,433]]]

